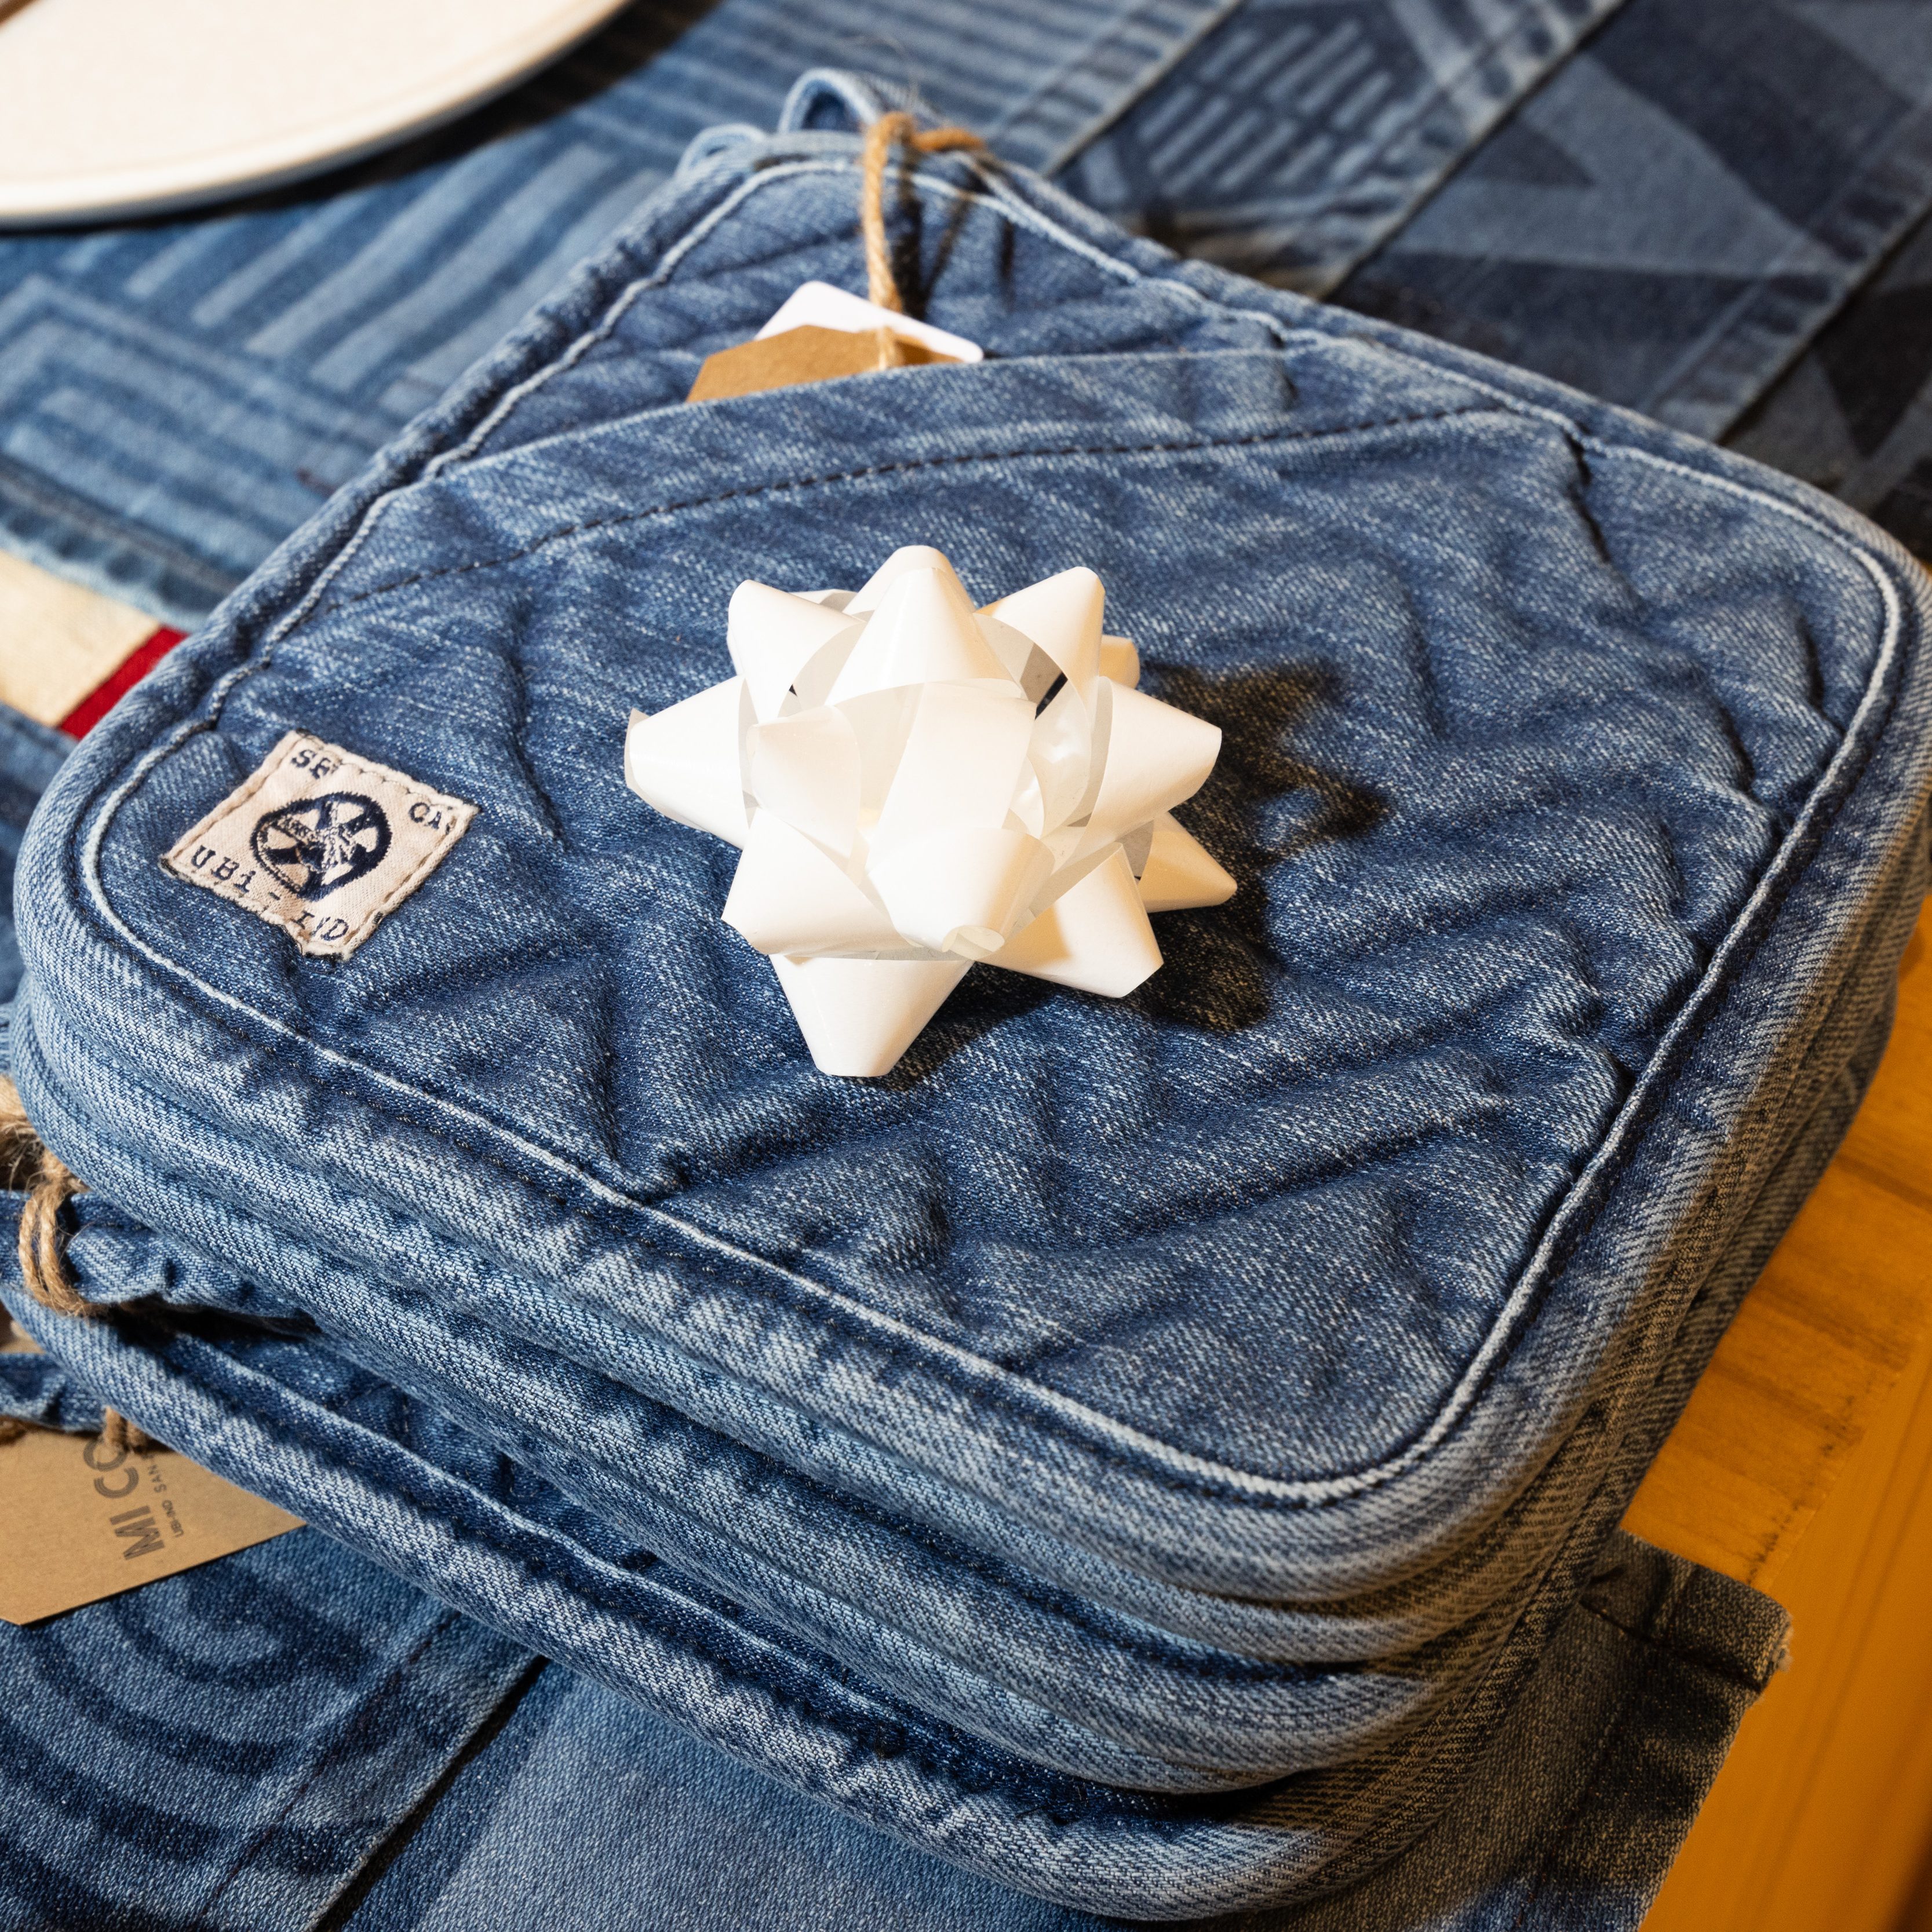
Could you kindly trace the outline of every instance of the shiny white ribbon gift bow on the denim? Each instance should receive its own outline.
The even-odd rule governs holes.
[[[1076,568],[976,611],[925,545],[858,591],[748,582],[738,674],[632,711],[626,784],[744,848],[724,920],[821,1072],[889,1072],[976,960],[1119,999],[1150,912],[1235,891],[1171,817],[1221,730],[1136,690],[1103,599]]]

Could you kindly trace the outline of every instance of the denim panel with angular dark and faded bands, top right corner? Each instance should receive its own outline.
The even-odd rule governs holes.
[[[1928,205],[1922,8],[1633,0],[1335,299],[1723,437]]]

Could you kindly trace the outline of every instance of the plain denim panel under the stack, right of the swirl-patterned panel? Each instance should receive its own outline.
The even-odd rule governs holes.
[[[1634,1932],[1779,1640],[1766,1598],[1615,1538],[1428,1837],[1339,1895],[1223,1917],[1213,1932]],[[462,1772],[346,1926],[520,1922],[549,1932],[1119,1924],[922,1859],[560,1671]]]

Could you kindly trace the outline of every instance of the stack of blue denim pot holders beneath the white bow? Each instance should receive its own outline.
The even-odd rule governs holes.
[[[837,106],[840,89],[823,83]],[[806,116],[800,116],[804,120]],[[1922,572],[1857,516],[1018,170],[896,211],[976,365],[684,404],[858,270],[856,141],[699,141],[66,761],[23,1325],[162,1439],[1078,1911],[1358,1880],[1532,1685],[1889,1024]],[[813,1070],[624,717],[742,578],[1074,562],[1225,732],[1124,1001]],[[290,732],[477,806],[352,956],[160,858]]]

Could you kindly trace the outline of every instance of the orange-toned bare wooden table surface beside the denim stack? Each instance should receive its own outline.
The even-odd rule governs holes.
[[[1646,1932],[1932,1932],[1932,914],[1845,1144],[1625,1524],[1793,1617]]]

